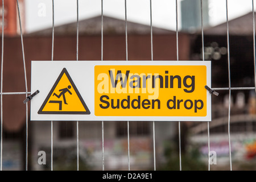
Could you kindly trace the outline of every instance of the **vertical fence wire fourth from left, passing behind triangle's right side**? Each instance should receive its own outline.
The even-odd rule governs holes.
[[[76,61],[79,58],[79,0],[76,1]],[[79,121],[76,121],[77,171],[79,171]]]

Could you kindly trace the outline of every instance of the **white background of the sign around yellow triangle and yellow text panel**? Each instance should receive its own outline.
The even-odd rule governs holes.
[[[207,67],[207,85],[211,88],[211,61],[31,61],[31,93],[39,90],[31,100],[31,121],[211,121],[211,94],[207,92],[207,115],[205,117],[170,116],[96,116],[94,115],[94,66],[96,65],[205,65]],[[51,90],[63,68],[75,82],[90,114],[38,114],[40,106]],[[93,75],[93,78],[91,78]],[[81,79],[82,77],[82,79]],[[86,85],[92,85],[93,92],[83,91]],[[86,90],[86,89],[85,89]]]

